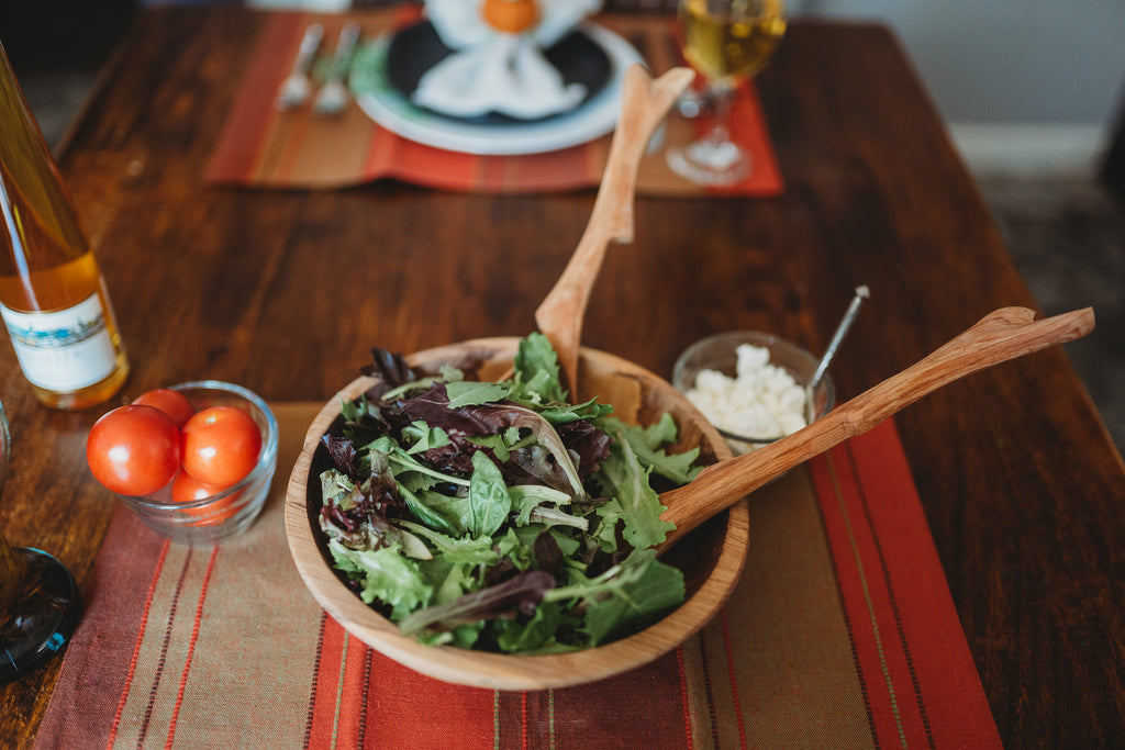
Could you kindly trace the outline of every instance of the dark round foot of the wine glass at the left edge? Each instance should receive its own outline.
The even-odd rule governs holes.
[[[0,683],[12,683],[54,656],[78,625],[81,597],[74,578],[55,558],[12,549],[33,581],[0,620]]]

